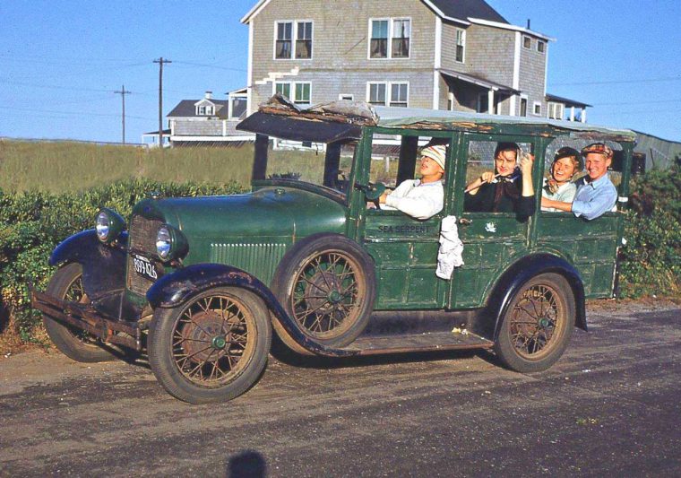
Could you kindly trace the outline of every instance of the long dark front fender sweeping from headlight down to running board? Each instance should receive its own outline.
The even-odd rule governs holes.
[[[172,309],[203,291],[215,287],[237,287],[254,292],[260,297],[272,316],[286,330],[293,340],[309,352],[327,357],[348,357],[356,355],[356,351],[332,349],[316,343],[302,334],[289,314],[281,307],[272,291],[254,275],[237,267],[222,264],[194,264],[167,274],[155,282],[147,291],[147,300],[154,309]]]

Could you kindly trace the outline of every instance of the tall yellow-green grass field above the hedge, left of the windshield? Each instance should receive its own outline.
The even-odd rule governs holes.
[[[0,141],[0,188],[52,193],[125,178],[250,185],[253,146],[159,149],[83,143]]]

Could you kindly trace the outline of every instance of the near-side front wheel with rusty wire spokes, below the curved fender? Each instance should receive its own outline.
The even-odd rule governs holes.
[[[149,361],[171,395],[194,404],[220,402],[260,377],[271,336],[262,300],[248,291],[213,289],[154,313]]]

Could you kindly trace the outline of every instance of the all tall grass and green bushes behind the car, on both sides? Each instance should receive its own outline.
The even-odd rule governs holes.
[[[314,178],[315,152],[277,152],[278,174]],[[44,288],[47,257],[74,232],[92,227],[99,207],[125,217],[151,191],[163,196],[233,194],[249,188],[253,148],[176,149],[80,143],[0,142],[0,352],[43,343],[27,282]],[[384,161],[373,161],[381,178]],[[394,162],[394,161],[392,161]],[[347,166],[341,163],[341,169]],[[394,165],[388,165],[393,168]],[[681,300],[681,174],[677,166],[634,178],[622,248],[620,290]]]

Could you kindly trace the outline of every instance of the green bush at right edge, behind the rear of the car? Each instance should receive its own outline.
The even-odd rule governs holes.
[[[623,297],[681,295],[681,174],[678,165],[632,182],[622,248]]]

